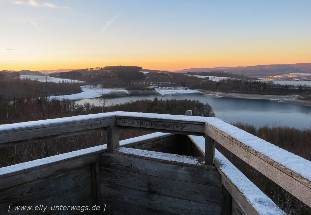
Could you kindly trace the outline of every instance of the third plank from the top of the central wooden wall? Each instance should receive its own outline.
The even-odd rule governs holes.
[[[136,204],[154,210],[187,215],[220,214],[219,206],[202,204],[114,185],[102,184],[101,189],[106,192],[105,196],[103,196],[104,198]]]

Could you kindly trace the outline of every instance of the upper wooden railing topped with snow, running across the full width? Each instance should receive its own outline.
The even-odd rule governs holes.
[[[206,162],[209,158],[209,162],[213,162],[212,140],[215,140],[311,207],[310,161],[214,117],[109,112],[0,125],[0,147],[95,132],[106,127],[205,136]],[[116,147],[118,144],[113,149]]]

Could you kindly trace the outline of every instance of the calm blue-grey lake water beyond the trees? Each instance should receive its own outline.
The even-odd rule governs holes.
[[[245,98],[207,98],[202,93],[173,94],[172,96],[156,94],[112,94],[109,95],[111,103],[125,103],[141,99],[195,99],[202,103],[209,103],[217,118],[229,122],[246,122],[256,128],[264,125],[280,125],[295,128],[311,127],[311,107],[287,104],[263,99]],[[86,98],[75,101],[83,104],[90,102],[96,104],[97,98]]]

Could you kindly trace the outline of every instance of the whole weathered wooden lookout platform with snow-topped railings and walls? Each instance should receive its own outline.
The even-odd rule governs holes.
[[[119,141],[119,129],[156,133]],[[285,214],[216,141],[311,206],[309,161],[212,117],[110,112],[16,123],[0,127],[0,147],[103,130],[107,144],[0,168],[0,214]],[[50,208],[14,210],[41,205]]]

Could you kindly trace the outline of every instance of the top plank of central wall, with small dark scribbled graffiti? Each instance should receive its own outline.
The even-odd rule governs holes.
[[[145,175],[221,187],[220,174],[217,171],[166,164],[152,160],[143,161],[143,159],[113,153],[100,153],[100,167],[127,172],[138,171]]]

